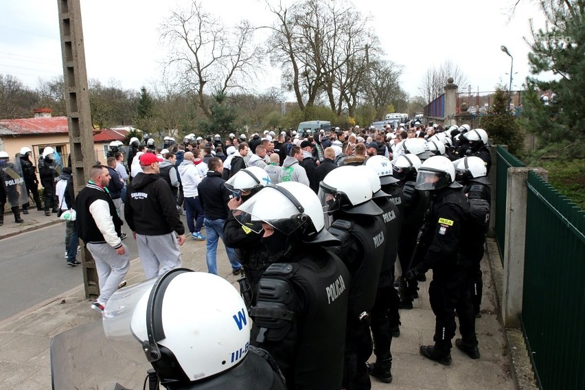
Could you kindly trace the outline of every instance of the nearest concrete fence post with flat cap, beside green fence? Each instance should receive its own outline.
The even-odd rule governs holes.
[[[547,176],[542,168],[509,168],[504,239],[504,286],[502,319],[506,328],[520,328],[524,288],[524,255],[528,172]]]

